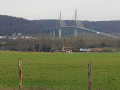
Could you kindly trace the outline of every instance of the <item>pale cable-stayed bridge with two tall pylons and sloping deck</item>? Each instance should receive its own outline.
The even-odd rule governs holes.
[[[118,36],[115,36],[115,35],[111,35],[111,34],[108,34],[108,33],[103,33],[103,32],[99,32],[97,30],[93,30],[93,29],[88,29],[88,28],[85,28],[82,24],[82,22],[80,20],[77,20],[77,10],[75,10],[75,25],[73,26],[67,26],[66,22],[64,20],[61,19],[61,12],[60,12],[60,22],[59,22],[59,27],[57,28],[53,28],[51,30],[49,30],[49,33],[55,37],[56,36],[56,31],[58,31],[58,36],[59,38],[62,37],[62,31],[63,30],[69,30],[69,29],[72,29],[74,31],[74,36],[77,37],[78,35],[78,31],[85,31],[85,32],[89,32],[89,33],[94,33],[94,34],[97,34],[97,35],[102,35],[102,36],[107,36],[107,37],[110,37],[110,38],[120,38]]]

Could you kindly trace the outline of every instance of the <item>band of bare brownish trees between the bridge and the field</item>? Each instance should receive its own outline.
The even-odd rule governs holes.
[[[68,36],[64,38],[53,37],[35,37],[34,39],[4,39],[6,46],[11,50],[17,51],[61,51],[63,47],[71,48],[77,51],[80,48],[104,48],[104,47],[120,47],[120,40],[95,34],[81,34],[79,37]]]

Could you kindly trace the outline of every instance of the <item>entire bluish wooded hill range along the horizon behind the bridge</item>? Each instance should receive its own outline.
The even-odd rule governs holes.
[[[73,20],[65,20],[74,26]],[[82,21],[85,28],[120,35],[120,21]],[[47,34],[46,30],[59,27],[59,20],[26,20],[23,18],[0,15],[0,36],[22,33],[25,35]]]

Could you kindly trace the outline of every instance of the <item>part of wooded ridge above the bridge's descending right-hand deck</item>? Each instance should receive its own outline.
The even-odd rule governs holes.
[[[82,21],[84,27],[93,30],[110,33],[120,34],[120,20],[119,21]]]

